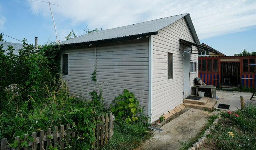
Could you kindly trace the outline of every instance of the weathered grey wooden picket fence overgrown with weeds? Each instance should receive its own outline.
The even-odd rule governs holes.
[[[112,115],[112,113],[110,113],[109,115],[106,114],[105,116],[102,115],[98,116],[97,118],[93,117],[93,120],[96,121],[96,129],[94,129],[94,135],[96,139],[93,142],[93,145],[96,144],[97,147],[102,146],[105,143],[107,143],[108,140],[110,140],[110,138],[114,134],[113,123],[115,117],[114,115]],[[75,123],[73,124],[73,126],[74,125]],[[18,141],[18,146],[16,148],[11,148],[10,144],[7,143],[7,138],[2,138],[0,150],[38,150],[38,148],[39,150],[48,150],[50,145],[52,145],[53,147],[58,147],[61,150],[63,150],[66,144],[70,142],[70,136],[73,138],[74,136],[76,136],[76,132],[70,130],[70,124],[66,124],[60,126],[60,131],[58,131],[58,127],[55,127],[53,133],[51,131],[51,128],[47,129],[46,133],[44,133],[44,130],[41,130],[39,137],[37,137],[37,132],[33,132],[33,141],[28,141],[28,134],[24,134],[23,139],[20,139],[20,136],[16,136],[15,140]],[[24,140],[28,141],[28,147],[20,145],[20,143],[22,143],[22,141]]]

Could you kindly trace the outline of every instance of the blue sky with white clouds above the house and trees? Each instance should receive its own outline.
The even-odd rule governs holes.
[[[231,56],[256,51],[256,0],[50,0],[58,40],[76,35],[190,13],[200,43]],[[55,4],[55,5],[54,5]],[[58,5],[58,6],[57,6]],[[0,33],[7,42],[26,38],[56,41],[48,2],[0,0]]]

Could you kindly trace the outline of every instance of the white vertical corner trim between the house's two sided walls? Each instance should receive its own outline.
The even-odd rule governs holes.
[[[152,35],[148,38],[148,123],[152,123],[152,95],[153,95],[153,37]]]

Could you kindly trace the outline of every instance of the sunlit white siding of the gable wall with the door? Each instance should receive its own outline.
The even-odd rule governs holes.
[[[152,121],[183,102],[183,54],[180,51],[180,39],[194,42],[184,18],[158,30],[158,35],[153,35]],[[172,80],[167,77],[168,52],[173,53]],[[198,54],[190,54],[190,60],[198,64]],[[190,87],[197,76],[198,74],[190,75]]]

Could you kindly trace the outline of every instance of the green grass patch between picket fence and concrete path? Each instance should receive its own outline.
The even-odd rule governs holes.
[[[114,135],[102,150],[133,150],[150,138],[148,124],[116,121],[114,124]]]

